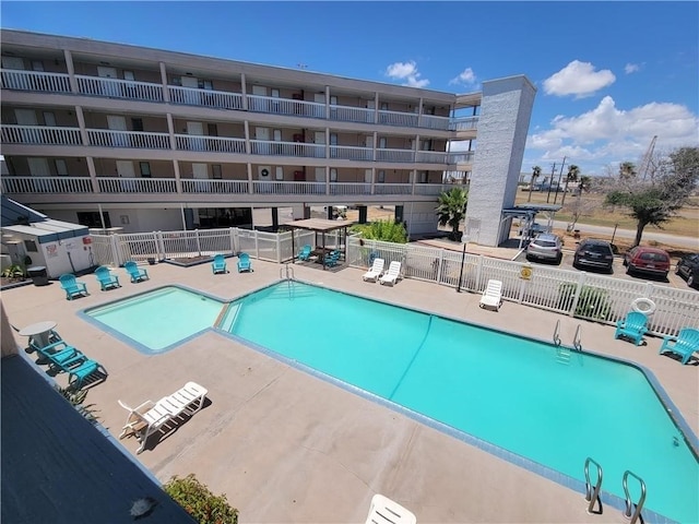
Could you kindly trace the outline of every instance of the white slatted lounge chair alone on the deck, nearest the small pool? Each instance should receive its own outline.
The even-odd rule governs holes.
[[[145,448],[147,438],[169,427],[168,422],[176,422],[182,415],[193,415],[204,405],[206,398],[205,388],[196,382],[187,382],[183,388],[157,402],[146,401],[135,408],[131,408],[121,401],[117,401],[121,407],[129,412],[127,422],[121,429],[119,439],[134,434],[141,446],[137,454]]]

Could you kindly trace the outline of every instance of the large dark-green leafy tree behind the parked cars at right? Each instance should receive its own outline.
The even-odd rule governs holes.
[[[630,163],[624,163],[630,164]],[[623,205],[637,221],[633,246],[641,243],[643,229],[673,217],[687,202],[699,179],[699,147],[679,147],[668,155],[656,154],[649,163],[649,179],[637,180],[619,168],[616,187],[605,203]]]

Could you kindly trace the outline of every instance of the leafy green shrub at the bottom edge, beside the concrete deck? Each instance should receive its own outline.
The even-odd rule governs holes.
[[[200,524],[237,524],[238,510],[232,508],[225,495],[215,496],[193,473],[185,478],[175,475],[164,486],[175,502],[185,508]]]

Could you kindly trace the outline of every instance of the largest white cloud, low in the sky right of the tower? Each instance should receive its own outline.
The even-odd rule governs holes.
[[[550,128],[528,138],[528,150],[540,151],[537,162],[560,162],[564,156],[578,165],[638,162],[657,135],[659,151],[698,145],[699,117],[686,106],[653,102],[628,110],[605,96],[590,111],[573,117],[558,115]],[[531,156],[531,153],[530,155]],[[594,167],[583,171],[594,171]],[[600,169],[597,169],[600,170]]]

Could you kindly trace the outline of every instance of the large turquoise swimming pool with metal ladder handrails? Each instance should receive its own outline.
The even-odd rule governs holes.
[[[632,366],[298,283],[233,302],[220,327],[573,478],[591,456],[619,497],[630,469],[645,508],[699,522],[697,457]]]

